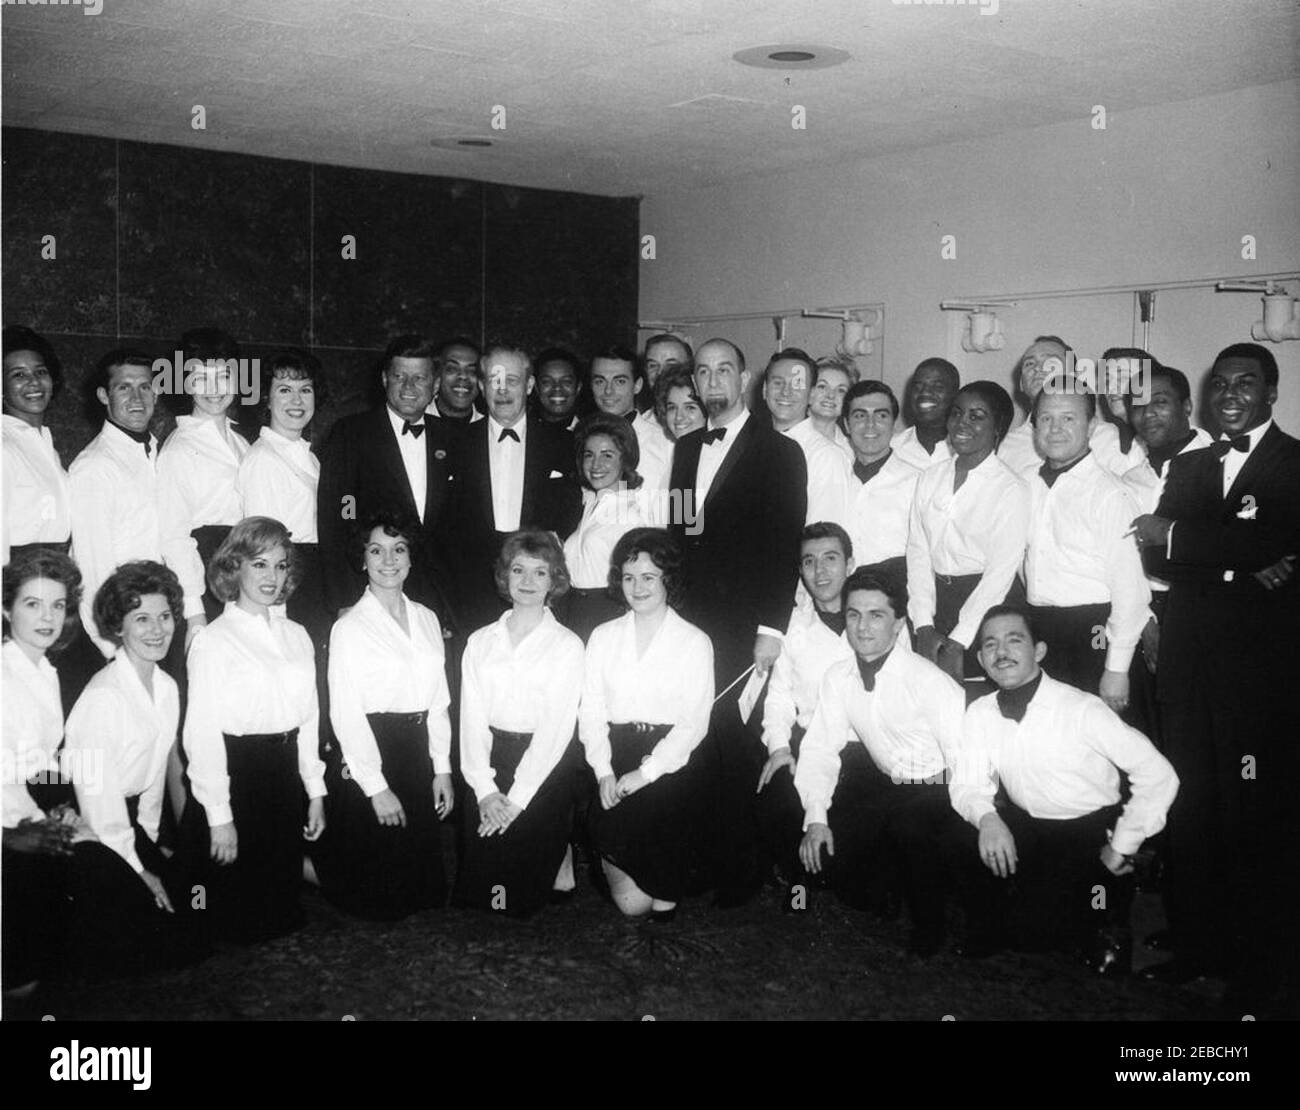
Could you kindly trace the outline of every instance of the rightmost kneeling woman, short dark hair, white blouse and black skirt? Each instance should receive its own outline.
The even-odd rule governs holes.
[[[629,612],[597,628],[586,646],[580,734],[601,792],[592,844],[624,914],[671,920],[692,818],[686,766],[708,730],[714,649],[673,607],[681,552],[667,532],[627,533],[610,585]]]

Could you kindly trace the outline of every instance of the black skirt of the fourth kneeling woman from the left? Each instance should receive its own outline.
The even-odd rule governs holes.
[[[441,827],[433,801],[426,712],[367,714],[384,779],[406,812],[406,827],[381,825],[346,764],[335,760],[330,818],[313,850],[325,896],[359,918],[394,922],[447,901]],[[332,779],[335,775],[332,769]]]

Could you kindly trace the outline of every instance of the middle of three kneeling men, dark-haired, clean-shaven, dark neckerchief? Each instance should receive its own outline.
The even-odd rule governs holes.
[[[945,784],[965,699],[948,675],[898,642],[906,613],[906,586],[892,576],[862,568],[845,581],[854,658],[827,671],[800,750],[800,859],[814,875],[824,868],[852,906],[870,906],[897,875],[911,914],[910,948],[932,955],[944,938],[940,844],[957,823]],[[840,753],[852,740],[871,759],[841,779]]]

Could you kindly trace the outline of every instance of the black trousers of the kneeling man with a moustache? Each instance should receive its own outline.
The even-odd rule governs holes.
[[[1015,875],[998,877],[979,858],[979,833],[962,823],[949,841],[970,933],[1026,950],[1087,948],[1101,929],[1123,932],[1132,906],[1132,876],[1101,863],[1106,831],[1121,806],[1071,820],[1034,818],[998,807],[1015,838]]]

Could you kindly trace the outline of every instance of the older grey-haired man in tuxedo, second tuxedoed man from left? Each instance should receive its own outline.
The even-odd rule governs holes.
[[[493,567],[502,541],[520,528],[568,536],[582,513],[572,437],[528,416],[533,364],[515,347],[484,352],[478,380],[488,419],[463,428],[455,443],[447,560],[465,632],[495,620],[504,602]]]

